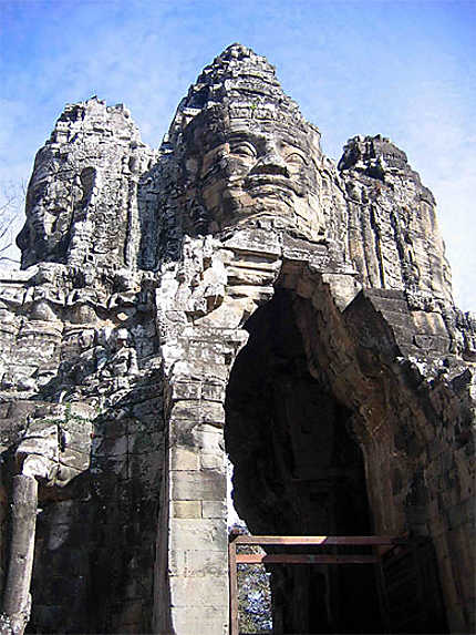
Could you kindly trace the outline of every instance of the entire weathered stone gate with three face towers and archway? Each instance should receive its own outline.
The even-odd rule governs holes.
[[[383,582],[276,566],[275,633],[475,631],[476,325],[404,152],[355,136],[335,165],[232,44],[157,151],[122,105],[68,105],[18,244],[2,633],[228,633],[227,455],[252,533],[412,545]]]

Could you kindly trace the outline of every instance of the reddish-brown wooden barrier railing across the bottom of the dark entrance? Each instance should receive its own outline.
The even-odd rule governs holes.
[[[238,624],[238,564],[380,564],[379,547],[391,547],[405,544],[403,537],[389,535],[230,535],[228,544],[229,583],[230,583],[230,635],[239,635]],[[257,554],[237,553],[237,546],[372,546],[373,555],[354,554],[315,554],[283,553]]]

